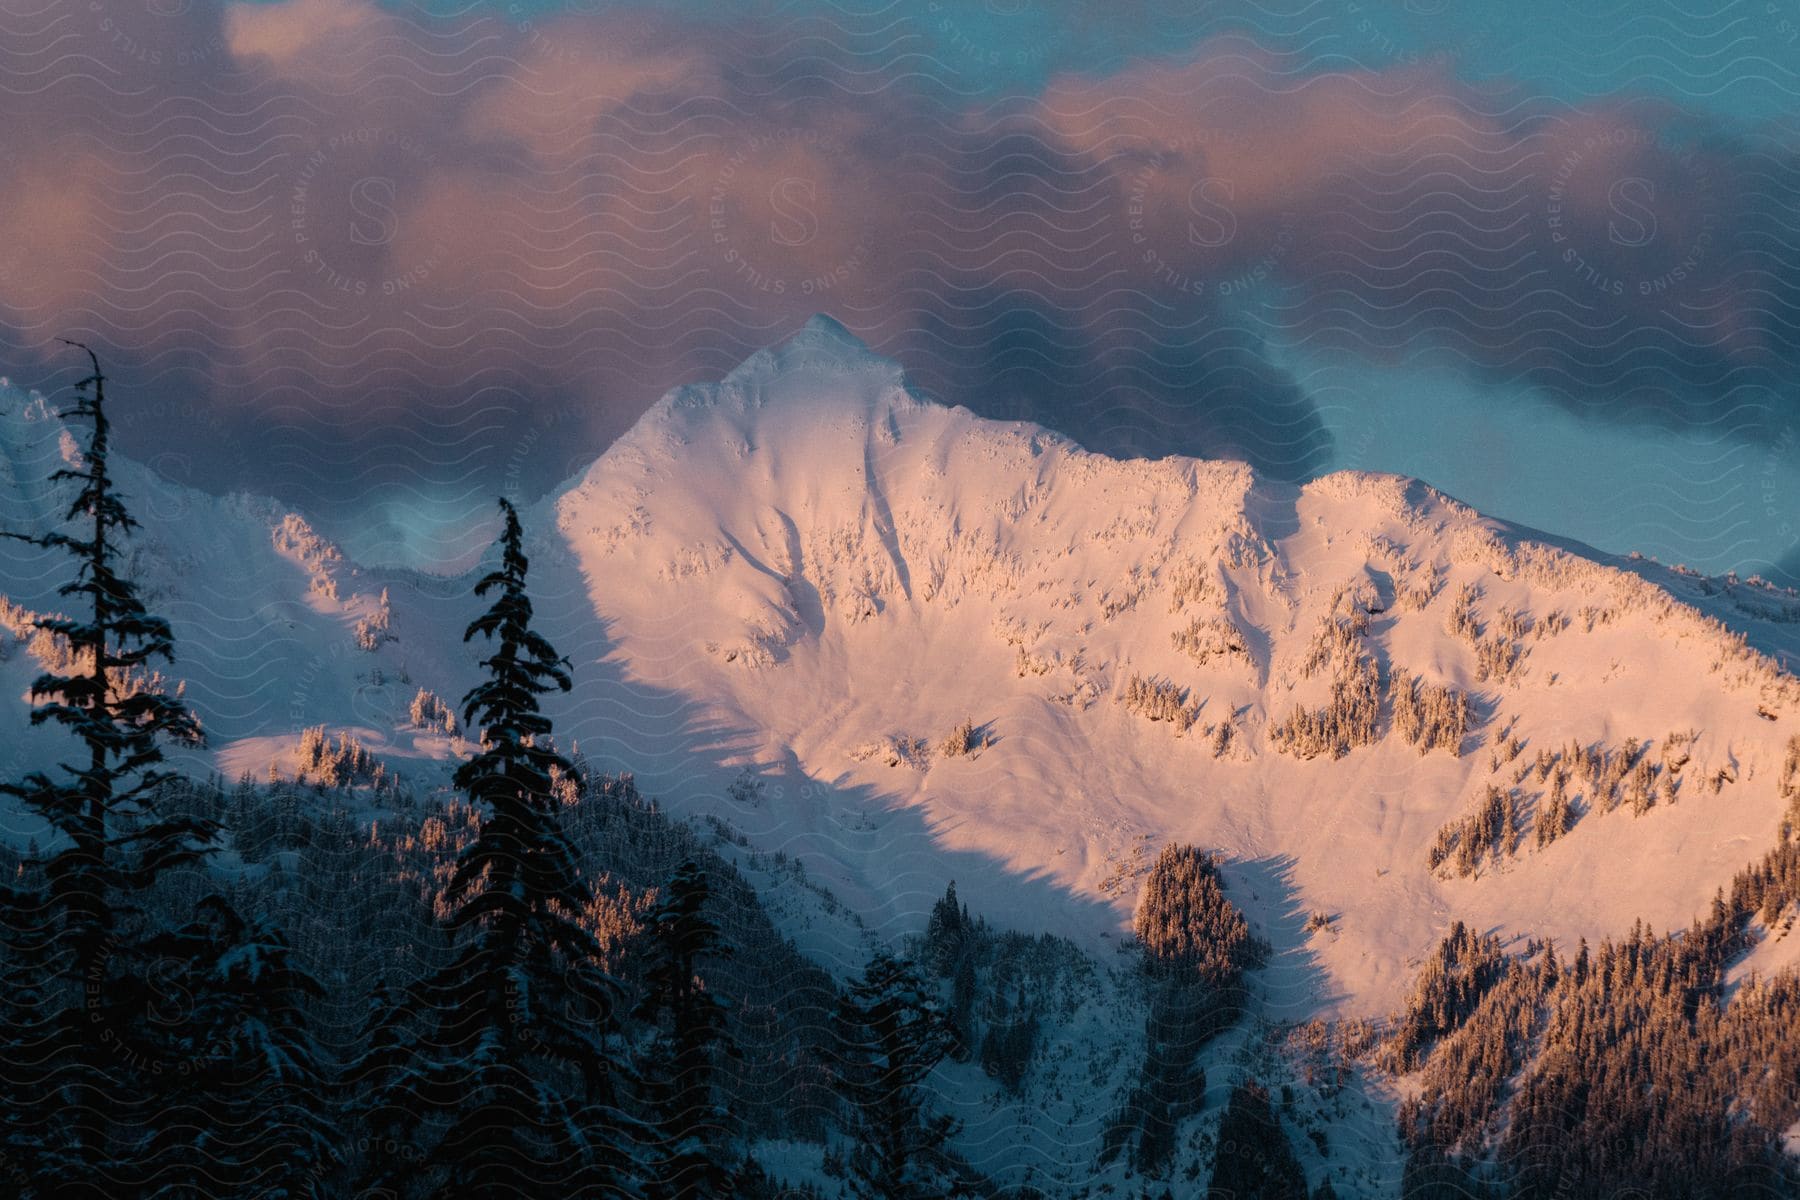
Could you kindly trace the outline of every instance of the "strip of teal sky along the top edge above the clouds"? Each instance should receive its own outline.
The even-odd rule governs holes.
[[[401,7],[401,5],[396,5]],[[414,5],[403,5],[414,7]],[[1800,95],[1800,4],[1726,0],[1710,5],[1615,0],[1309,0],[1287,4],[1125,0],[794,0],[716,5],[693,0],[508,0],[427,11],[520,18],[643,11],[724,23],[745,13],[851,31],[871,61],[904,52],[961,72],[938,72],[983,95],[1040,90],[1057,72],[1107,70],[1181,58],[1197,41],[1247,34],[1296,54],[1309,70],[1381,70],[1429,63],[1467,81],[1525,85],[1568,103],[1620,94],[1661,95],[1744,122],[1787,122]],[[916,41],[911,40],[916,32]],[[796,47],[797,49],[797,47]],[[961,74],[963,77],[952,77]]]

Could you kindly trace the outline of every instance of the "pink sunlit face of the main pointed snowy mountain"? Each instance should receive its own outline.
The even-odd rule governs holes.
[[[1120,462],[922,403],[823,318],[664,398],[554,511],[626,675],[693,705],[733,761],[812,783],[767,835],[896,921],[950,873],[1019,925],[1116,932],[1150,853],[1190,840],[1238,865],[1278,943],[1336,914],[1296,950],[1316,966],[1296,1009],[1372,1011],[1453,914],[1555,936],[1685,923],[1782,811],[1795,684],[1670,588],[1415,480]],[[1283,748],[1357,657],[1382,680],[1372,743]],[[1402,669],[1467,694],[1454,750],[1397,729]],[[940,754],[963,720],[986,745]],[[1521,748],[1496,770],[1501,734]],[[1629,739],[1670,761],[1672,802],[1597,806],[1478,878],[1427,871],[1489,783],[1530,810],[1548,784],[1516,775],[1539,752]],[[974,862],[932,865],[954,855]]]

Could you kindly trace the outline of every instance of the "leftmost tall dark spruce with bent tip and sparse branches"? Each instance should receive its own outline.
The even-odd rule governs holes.
[[[110,471],[106,376],[86,345],[70,345],[88,354],[92,372],[58,416],[85,423],[88,435],[50,484],[74,484],[65,522],[76,531],[5,533],[76,563],[59,594],[79,615],[36,621],[72,666],[32,682],[31,721],[63,727],[81,754],[59,779],[32,772],[0,783],[49,826],[32,883],[0,892],[0,984],[13,1004],[0,1045],[0,1153],[23,1166],[38,1195],[94,1196],[115,1195],[133,1173],[144,1121],[157,1112],[160,1060],[139,1045],[153,1002],[144,898],[164,871],[207,851],[212,828],[153,811],[169,779],[162,747],[198,743],[200,723],[149,678],[153,662],[173,660],[173,635],[121,570],[121,540],[137,522]]]

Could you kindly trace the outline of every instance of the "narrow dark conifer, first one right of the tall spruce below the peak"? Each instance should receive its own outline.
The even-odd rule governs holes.
[[[711,894],[706,871],[688,858],[644,925],[650,963],[637,1016],[668,1016],[643,1072],[655,1124],[648,1189],[655,1200],[722,1196],[733,1189],[724,1151],[729,1114],[713,1097],[713,1078],[718,1056],[738,1051],[729,1036],[729,1004],[698,973],[702,959],[731,957],[731,945],[706,912]]]

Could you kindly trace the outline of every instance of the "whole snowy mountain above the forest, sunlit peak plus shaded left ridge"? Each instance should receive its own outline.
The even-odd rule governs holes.
[[[43,529],[74,443],[0,396],[0,527]],[[121,475],[218,770],[290,774],[326,725],[443,781],[464,747],[409,709],[472,682],[472,578],[364,569],[272,502]],[[1787,806],[1791,592],[1562,545],[1400,477],[1105,459],[914,398],[823,317],[664,396],[526,522],[576,675],[558,736],[797,860],[857,914],[770,882],[832,970],[916,934],[950,880],[1105,966],[1179,840],[1222,855],[1274,946],[1265,1015],[1377,1016],[1453,918],[1559,941],[1685,925]],[[61,570],[0,543],[9,696]],[[59,748],[23,703],[0,738],[7,770]],[[1490,786],[1498,851],[1465,824]]]

